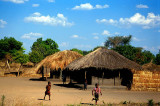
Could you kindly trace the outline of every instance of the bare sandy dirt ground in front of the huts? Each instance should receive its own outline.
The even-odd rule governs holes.
[[[0,98],[5,96],[6,106],[21,105],[49,105],[49,106],[66,106],[67,104],[94,104],[91,90],[94,86],[89,86],[88,90],[80,88],[67,88],[57,86],[62,84],[57,80],[51,80],[51,100],[43,100],[45,86],[47,81],[38,81],[35,79],[22,77],[0,77]],[[147,91],[127,91],[124,88],[101,86],[103,95],[100,96],[98,104],[103,103],[120,103],[123,101],[130,102],[148,102],[153,99],[160,102],[160,92]]]

